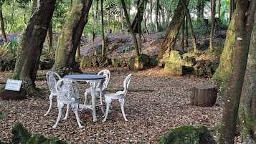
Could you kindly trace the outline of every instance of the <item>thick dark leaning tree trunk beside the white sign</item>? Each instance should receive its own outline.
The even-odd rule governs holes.
[[[39,59],[47,29],[52,19],[54,5],[55,0],[39,1],[37,9],[34,10],[29,20],[27,29],[22,34],[22,41],[19,44],[18,57],[11,78],[22,80],[22,90],[27,93],[34,92]]]

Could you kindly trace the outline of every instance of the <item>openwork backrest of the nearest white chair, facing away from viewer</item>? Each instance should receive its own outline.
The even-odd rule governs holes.
[[[77,81],[62,78],[56,84],[57,100],[75,101],[79,99],[80,85]]]

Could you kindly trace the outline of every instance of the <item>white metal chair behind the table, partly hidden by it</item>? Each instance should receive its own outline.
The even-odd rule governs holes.
[[[110,80],[110,71],[108,69],[102,69],[102,70],[100,70],[100,72],[98,72],[97,75],[105,75],[105,80],[103,81],[103,83],[99,83],[96,86],[96,88],[95,88],[96,97],[98,97],[100,95],[100,91],[104,93],[105,90],[107,89],[108,82]],[[92,88],[91,87],[87,88],[85,90],[85,102],[84,102],[84,104],[86,104],[86,102],[87,102],[87,95],[88,95],[88,93],[90,93],[90,94],[92,93]],[[103,110],[103,97],[102,97],[102,95],[100,95],[100,104],[96,104],[96,106],[101,106],[101,110],[104,113],[104,110]]]

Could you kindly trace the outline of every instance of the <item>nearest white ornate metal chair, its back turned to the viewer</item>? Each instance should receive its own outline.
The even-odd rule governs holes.
[[[52,128],[57,127],[57,124],[59,123],[60,118],[62,117],[62,107],[64,107],[65,104],[67,104],[67,113],[65,117],[68,116],[69,105],[71,105],[72,110],[75,113],[75,117],[77,119],[79,128],[83,128],[83,126],[80,123],[80,117],[78,115],[78,107],[80,103],[80,99],[79,99],[80,85],[73,79],[62,78],[59,81],[57,81],[56,91],[57,91],[57,107],[58,107],[59,113],[58,113],[57,121],[52,126]]]

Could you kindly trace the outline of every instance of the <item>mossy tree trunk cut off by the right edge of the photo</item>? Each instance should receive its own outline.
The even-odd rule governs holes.
[[[256,143],[256,13],[253,27],[238,110],[240,135],[247,143]]]

